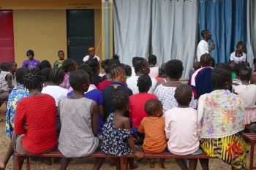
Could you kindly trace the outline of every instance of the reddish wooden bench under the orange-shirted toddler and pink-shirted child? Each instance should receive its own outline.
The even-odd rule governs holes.
[[[189,158],[197,158],[197,159],[209,159],[211,157],[208,157],[206,154],[201,154],[201,155],[173,155],[170,152],[162,152],[162,153],[146,153],[143,152],[144,158],[184,158],[184,159],[189,159]],[[129,154],[129,155],[124,155],[124,164],[125,170],[128,170],[128,161],[127,158],[136,158],[135,155]],[[236,170],[235,167],[231,166],[231,170]]]

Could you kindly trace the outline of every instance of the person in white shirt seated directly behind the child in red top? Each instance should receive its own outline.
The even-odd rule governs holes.
[[[135,76],[129,77],[129,79],[127,79],[127,87],[132,90],[133,94],[137,94],[139,93],[139,88],[137,86],[138,78],[141,75],[149,74],[150,69],[149,69],[148,61],[146,61],[144,58],[136,57],[135,59],[132,59],[132,63],[133,61],[134,61],[133,65],[135,66]],[[148,90],[148,93],[153,94],[154,89],[157,87],[157,80],[153,77],[150,77],[150,78],[152,81],[152,85],[151,85],[151,88]]]

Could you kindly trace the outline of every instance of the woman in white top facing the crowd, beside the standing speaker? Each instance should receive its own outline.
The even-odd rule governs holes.
[[[246,54],[244,51],[244,45],[242,41],[237,42],[236,51],[230,54],[231,63],[241,63],[242,61],[246,61]]]

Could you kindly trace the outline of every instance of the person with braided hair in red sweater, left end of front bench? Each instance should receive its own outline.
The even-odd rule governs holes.
[[[56,105],[52,96],[41,93],[42,73],[31,70],[24,75],[22,82],[29,90],[29,97],[22,98],[17,104],[15,131],[7,154],[0,161],[0,169],[5,169],[14,151],[24,156],[19,160],[21,169],[27,155],[37,156],[57,148]]]

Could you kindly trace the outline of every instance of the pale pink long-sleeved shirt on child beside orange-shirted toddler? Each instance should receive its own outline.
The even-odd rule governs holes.
[[[165,135],[169,138],[168,149],[175,155],[189,155],[199,148],[200,122],[197,110],[190,107],[165,112]]]

